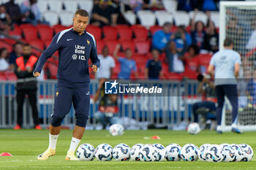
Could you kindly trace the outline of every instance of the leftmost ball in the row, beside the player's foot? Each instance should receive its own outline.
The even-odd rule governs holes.
[[[94,146],[91,144],[81,144],[77,150],[77,157],[79,161],[93,161],[95,155]]]

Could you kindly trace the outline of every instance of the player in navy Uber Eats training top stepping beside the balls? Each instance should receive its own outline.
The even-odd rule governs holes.
[[[77,122],[66,160],[78,160],[74,152],[83,136],[89,115],[89,58],[93,63],[91,66],[93,71],[97,72],[99,68],[94,36],[85,31],[88,20],[88,12],[78,9],[73,18],[73,27],[61,31],[53,37],[53,41],[40,56],[34,70],[34,76],[38,77],[45,61],[56,50],[59,50],[58,85],[54,112],[51,115],[49,147],[48,150],[37,157],[38,160],[47,160],[56,153],[56,142],[61,131],[61,122],[69,112],[72,102]]]

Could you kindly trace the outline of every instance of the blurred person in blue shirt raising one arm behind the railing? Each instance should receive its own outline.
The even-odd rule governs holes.
[[[137,72],[137,66],[136,62],[132,60],[132,50],[127,48],[124,50],[125,58],[118,57],[118,51],[120,50],[121,45],[116,45],[116,48],[113,53],[113,57],[116,58],[116,60],[121,63],[120,66],[120,72],[118,74],[118,79],[125,79],[129,80],[129,77],[132,74],[132,71],[134,71],[135,78],[138,79],[138,72]]]

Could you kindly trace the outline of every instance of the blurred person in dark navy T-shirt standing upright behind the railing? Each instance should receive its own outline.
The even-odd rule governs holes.
[[[164,79],[162,73],[162,63],[159,61],[159,51],[154,49],[151,51],[152,59],[146,63],[145,77],[150,80]]]

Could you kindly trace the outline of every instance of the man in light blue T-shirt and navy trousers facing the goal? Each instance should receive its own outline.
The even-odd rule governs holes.
[[[232,131],[241,134],[242,132],[236,127],[238,119],[236,79],[239,74],[241,57],[233,50],[233,41],[231,39],[225,39],[224,47],[225,50],[220,50],[212,56],[210,65],[208,66],[208,72],[214,74],[215,90],[217,94],[217,134],[222,134],[220,124],[222,121],[222,108],[225,95],[232,105]]]

